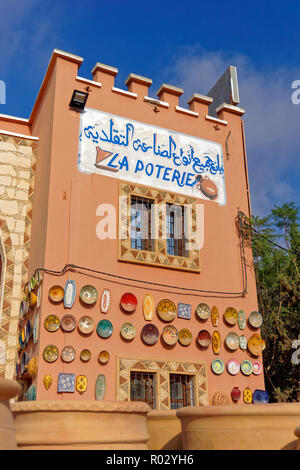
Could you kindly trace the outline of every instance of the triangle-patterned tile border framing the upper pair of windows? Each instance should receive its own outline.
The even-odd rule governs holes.
[[[155,251],[135,250],[130,246],[130,197],[140,196],[151,198],[155,201],[158,209],[158,239]],[[190,250],[189,257],[171,256],[167,254],[165,227],[165,205],[178,204],[190,207],[189,232],[196,234],[196,199],[169,193],[158,189],[140,186],[130,183],[119,183],[119,260],[131,263],[143,263],[165,268],[180,269],[186,271],[200,272],[200,250]],[[196,235],[190,238],[190,243],[195,243]]]

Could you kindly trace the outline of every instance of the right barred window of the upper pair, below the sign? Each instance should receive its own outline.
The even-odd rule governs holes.
[[[185,249],[185,212],[183,206],[166,204],[167,254],[188,256]]]

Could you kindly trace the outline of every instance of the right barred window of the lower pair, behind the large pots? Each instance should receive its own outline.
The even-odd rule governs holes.
[[[171,410],[194,406],[194,377],[192,375],[170,374]]]

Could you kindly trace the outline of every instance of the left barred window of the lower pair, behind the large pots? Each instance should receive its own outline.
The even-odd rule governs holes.
[[[130,373],[130,401],[144,401],[156,408],[156,375],[145,372]]]

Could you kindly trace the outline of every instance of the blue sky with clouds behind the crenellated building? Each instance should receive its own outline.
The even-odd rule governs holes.
[[[206,94],[228,65],[236,65],[253,212],[274,204],[300,206],[300,3],[267,1],[0,0],[0,113],[28,117],[54,48],[152,78],[150,95],[165,82]]]

